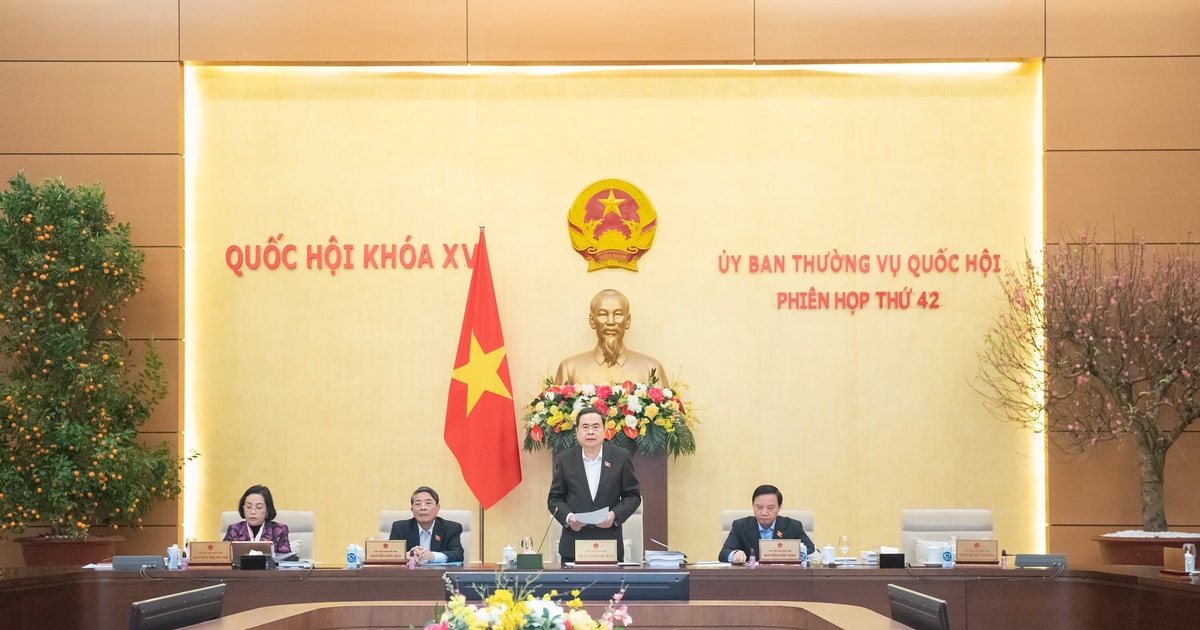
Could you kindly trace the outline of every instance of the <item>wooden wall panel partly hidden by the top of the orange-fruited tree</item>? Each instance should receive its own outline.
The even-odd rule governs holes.
[[[184,160],[178,155],[0,155],[4,181],[22,170],[30,181],[98,181],[108,210],[132,227],[133,245],[184,245]]]

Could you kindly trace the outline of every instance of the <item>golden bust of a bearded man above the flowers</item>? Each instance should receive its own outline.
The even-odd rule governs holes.
[[[659,386],[670,386],[658,359],[625,347],[630,322],[629,300],[619,290],[605,289],[592,298],[588,324],[596,332],[596,346],[558,364],[554,383],[649,383],[653,371]]]

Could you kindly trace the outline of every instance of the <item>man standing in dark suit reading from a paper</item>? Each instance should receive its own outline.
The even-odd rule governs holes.
[[[572,446],[554,456],[554,475],[546,505],[563,526],[558,554],[563,563],[575,562],[576,540],[616,540],[617,562],[625,558],[620,524],[637,511],[642,497],[634,475],[629,452],[604,443],[604,415],[594,407],[576,416]],[[595,523],[584,523],[576,515],[606,510]]]

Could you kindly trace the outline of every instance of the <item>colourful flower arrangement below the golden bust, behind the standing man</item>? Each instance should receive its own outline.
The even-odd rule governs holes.
[[[524,410],[527,451],[548,446],[560,452],[574,446],[580,409],[595,407],[605,414],[605,440],[630,452],[673,457],[696,452],[696,418],[671,388],[649,383],[566,384],[546,379],[544,391]]]

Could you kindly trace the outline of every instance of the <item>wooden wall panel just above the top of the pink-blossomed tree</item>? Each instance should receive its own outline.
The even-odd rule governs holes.
[[[1045,234],[1088,224],[1154,242],[1200,242],[1200,151],[1054,151],[1045,156]]]

